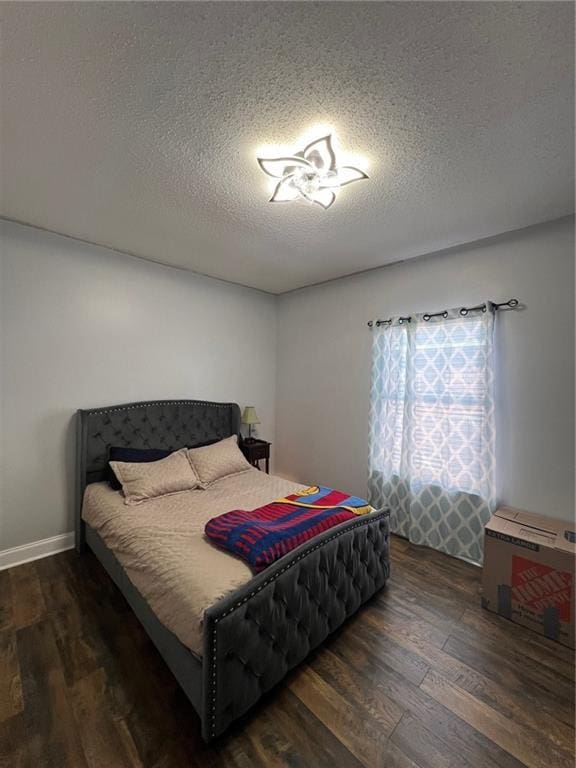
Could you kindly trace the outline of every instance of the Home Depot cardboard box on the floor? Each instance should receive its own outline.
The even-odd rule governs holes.
[[[482,607],[574,648],[573,528],[500,507],[485,528]]]

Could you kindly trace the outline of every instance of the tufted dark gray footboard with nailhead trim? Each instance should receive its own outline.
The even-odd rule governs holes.
[[[377,592],[388,512],[326,531],[206,611],[202,733],[218,736]]]

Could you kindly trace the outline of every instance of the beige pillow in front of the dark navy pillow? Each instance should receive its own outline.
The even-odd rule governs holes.
[[[111,461],[110,466],[122,485],[124,503],[129,505],[202,487],[186,448],[160,461]]]

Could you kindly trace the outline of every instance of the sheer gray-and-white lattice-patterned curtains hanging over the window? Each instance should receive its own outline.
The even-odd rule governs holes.
[[[494,311],[484,307],[372,329],[370,502],[390,509],[395,533],[477,563],[495,507]]]

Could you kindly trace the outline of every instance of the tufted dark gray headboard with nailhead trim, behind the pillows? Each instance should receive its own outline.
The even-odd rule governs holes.
[[[152,400],[78,411],[76,548],[84,543],[84,490],[107,476],[110,446],[177,450],[239,433],[236,403]]]

